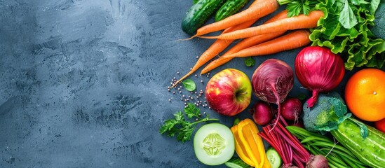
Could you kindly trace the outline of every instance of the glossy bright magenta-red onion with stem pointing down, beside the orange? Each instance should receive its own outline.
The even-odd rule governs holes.
[[[312,90],[308,107],[316,104],[319,92],[333,90],[344,78],[344,60],[328,48],[306,47],[295,59],[295,75],[299,83]]]

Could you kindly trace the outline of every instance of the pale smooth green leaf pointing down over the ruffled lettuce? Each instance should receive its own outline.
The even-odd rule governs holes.
[[[345,0],[344,8],[342,8],[338,20],[345,29],[351,29],[357,25],[356,15],[354,15],[348,0]]]

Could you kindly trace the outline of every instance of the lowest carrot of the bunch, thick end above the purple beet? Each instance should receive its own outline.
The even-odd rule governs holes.
[[[309,40],[310,31],[306,29],[300,29],[293,31],[290,34],[274,38],[271,41],[266,41],[264,43],[252,46],[250,48],[245,48],[239,52],[230,55],[223,55],[218,59],[210,62],[212,66],[219,66],[226,62],[228,59],[234,57],[250,57],[250,56],[260,56],[260,55],[271,55],[277,52],[284,50],[291,50],[294,48],[300,48],[304,45],[310,43]]]

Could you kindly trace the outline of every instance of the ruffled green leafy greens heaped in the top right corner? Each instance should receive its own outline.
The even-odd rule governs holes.
[[[385,62],[385,41],[374,36],[374,14],[381,0],[278,0],[288,4],[288,16],[322,10],[318,27],[311,29],[312,45],[325,46],[344,58],[345,69],[367,66],[381,68]],[[384,13],[384,11],[381,11]],[[381,19],[381,18],[377,18]],[[379,28],[381,29],[381,27]]]

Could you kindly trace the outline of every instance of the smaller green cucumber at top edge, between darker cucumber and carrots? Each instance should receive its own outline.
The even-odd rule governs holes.
[[[249,0],[228,0],[215,14],[215,22],[223,20],[231,15],[234,15],[240,10]]]

